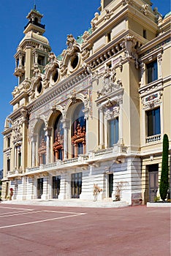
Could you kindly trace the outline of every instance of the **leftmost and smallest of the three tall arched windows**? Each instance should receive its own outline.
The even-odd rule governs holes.
[[[45,124],[42,124],[42,127],[39,129],[39,164],[45,165],[46,163],[46,136],[45,136]]]

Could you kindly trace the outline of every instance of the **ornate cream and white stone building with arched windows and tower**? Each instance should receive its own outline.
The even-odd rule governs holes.
[[[149,0],[101,4],[91,29],[67,35],[58,56],[42,15],[29,12],[3,132],[3,198],[10,184],[15,199],[93,200],[98,183],[104,200],[123,181],[130,205],[156,196],[151,173],[159,181],[161,138],[171,138],[169,16]]]

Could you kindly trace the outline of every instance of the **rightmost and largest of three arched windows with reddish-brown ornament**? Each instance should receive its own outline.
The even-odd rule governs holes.
[[[72,116],[72,157],[86,154],[86,119],[83,102],[78,103]]]

